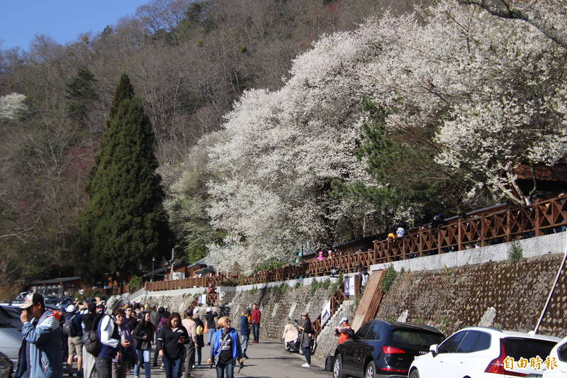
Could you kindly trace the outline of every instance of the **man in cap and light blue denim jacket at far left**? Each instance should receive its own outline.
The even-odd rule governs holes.
[[[20,307],[23,340],[14,377],[22,377],[26,371],[33,378],[63,377],[59,314],[46,310],[38,293],[26,295]]]

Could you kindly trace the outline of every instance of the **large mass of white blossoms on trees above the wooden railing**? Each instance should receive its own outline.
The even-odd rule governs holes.
[[[388,130],[434,127],[438,162],[517,201],[517,164],[566,157],[564,50],[527,23],[452,0],[419,16],[326,35],[280,90],[242,96],[227,140],[210,150],[223,173],[210,184],[210,216],[229,231],[225,245],[209,246],[219,267],[290,260],[332,221],[374,211],[325,191],[332,179],[372,184],[353,155],[364,96],[390,111]]]

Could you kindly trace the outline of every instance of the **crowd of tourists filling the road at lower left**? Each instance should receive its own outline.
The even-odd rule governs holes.
[[[240,335],[227,316],[207,308],[204,322],[187,308],[182,314],[149,304],[128,304],[121,296],[108,301],[77,301],[62,311],[45,307],[43,296],[28,294],[21,308],[22,346],[14,377],[125,378],[152,367],[167,378],[191,377],[202,362],[202,349],[210,348],[208,366],[215,365],[218,378],[234,377],[236,364],[247,357],[249,336],[259,343],[261,312],[257,304],[240,316]],[[208,333],[205,343],[204,333]],[[153,350],[153,356],[152,356]],[[153,358],[152,358],[153,357]],[[74,369],[76,361],[77,369]],[[66,364],[65,364],[66,362]]]

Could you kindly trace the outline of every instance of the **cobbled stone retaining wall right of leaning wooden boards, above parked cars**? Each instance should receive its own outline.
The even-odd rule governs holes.
[[[466,326],[528,331],[537,325],[562,255],[398,273],[376,318],[425,323],[449,335]],[[567,334],[567,276],[561,272],[539,333]]]

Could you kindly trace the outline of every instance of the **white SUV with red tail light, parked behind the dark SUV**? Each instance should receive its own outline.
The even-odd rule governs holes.
[[[408,377],[541,377],[544,361],[558,340],[511,330],[464,328],[440,345],[432,345],[426,355],[415,357]],[[531,362],[534,367],[530,367]]]

